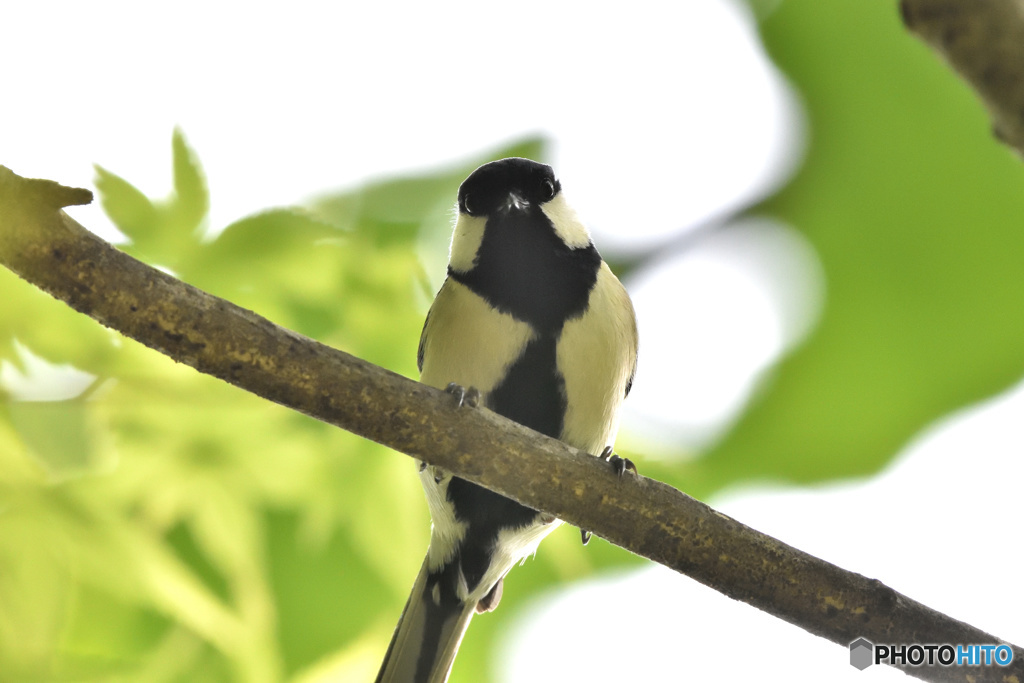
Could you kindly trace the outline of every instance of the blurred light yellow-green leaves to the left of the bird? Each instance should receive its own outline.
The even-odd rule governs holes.
[[[179,131],[172,152],[162,201],[97,168],[125,251],[416,376],[434,289],[419,247],[443,254],[458,185],[486,159],[211,233]],[[428,538],[408,458],[175,365],[6,270],[0,287],[16,377],[0,414],[0,680],[371,678]]]

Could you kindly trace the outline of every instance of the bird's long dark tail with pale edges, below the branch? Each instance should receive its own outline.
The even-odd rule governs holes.
[[[424,560],[377,674],[377,683],[447,680],[476,605],[445,597],[447,591],[432,590],[428,579]]]

